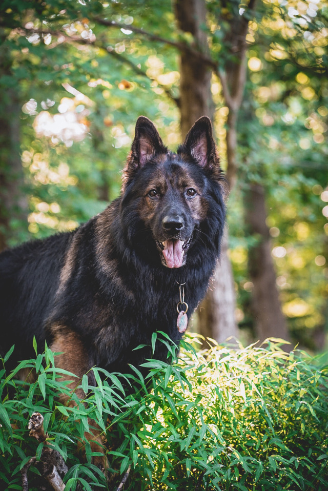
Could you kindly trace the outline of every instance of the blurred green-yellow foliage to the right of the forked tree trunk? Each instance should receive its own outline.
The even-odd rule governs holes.
[[[243,195],[256,183],[267,196],[282,310],[293,339],[311,350],[323,347],[328,326],[326,26],[326,2],[258,5],[247,34],[239,180],[228,210],[240,327],[252,329],[247,257],[258,240],[241,226],[240,215],[247,213]]]

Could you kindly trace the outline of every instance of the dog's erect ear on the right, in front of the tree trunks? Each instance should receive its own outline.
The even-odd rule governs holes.
[[[189,153],[203,168],[219,169],[219,158],[212,136],[211,120],[207,116],[197,119],[189,130],[185,143],[178,150]]]

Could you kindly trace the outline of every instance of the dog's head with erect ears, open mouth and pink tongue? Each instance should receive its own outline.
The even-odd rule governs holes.
[[[140,116],[123,181],[125,203],[134,203],[144,230],[151,231],[162,264],[183,266],[194,231],[208,216],[209,182],[219,187],[222,181],[210,119],[198,119],[174,154]]]

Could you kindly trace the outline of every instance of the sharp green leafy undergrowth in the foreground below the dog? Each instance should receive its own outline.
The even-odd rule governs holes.
[[[156,342],[166,343],[174,356],[165,334],[155,333],[153,348]],[[279,340],[270,340],[268,349],[229,349],[211,341],[209,350],[196,353],[197,342],[196,336],[187,338],[172,365],[148,360],[146,378],[134,368],[126,376],[93,369],[97,386],[88,387],[84,376],[81,386],[90,392],[85,404],[73,395],[74,407],[56,399],[67,387],[47,347],[11,373],[7,354],[0,405],[0,478],[6,489],[20,489],[19,469],[40,456],[43,444],[27,437],[35,411],[44,415],[49,442],[70,467],[67,491],[78,482],[85,489],[106,487],[88,445],[86,464],[75,455],[88,417],[106,432],[117,485],[131,464],[126,489],[327,489],[326,366],[282,352]],[[22,368],[36,370],[35,383],[14,378]],[[29,482],[35,489],[35,468]]]

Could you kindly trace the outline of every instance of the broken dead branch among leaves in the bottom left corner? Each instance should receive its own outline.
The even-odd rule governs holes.
[[[48,434],[43,427],[44,417],[40,413],[33,413],[29,421],[30,436],[35,438],[39,443],[45,442],[39,461],[32,457],[20,471],[22,474],[23,491],[28,491],[27,473],[31,465],[35,465],[41,476],[48,481],[55,491],[64,491],[65,484],[63,477],[68,472],[68,467],[63,457],[57,450],[51,448],[47,442]]]

